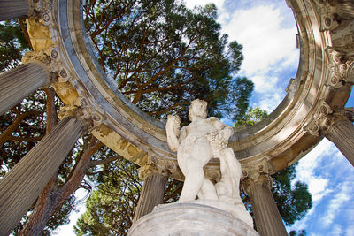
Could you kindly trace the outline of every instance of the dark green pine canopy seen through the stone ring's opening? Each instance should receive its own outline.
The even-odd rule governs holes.
[[[253,84],[234,78],[242,46],[219,33],[214,4],[194,10],[175,0],[89,1],[85,26],[106,72],[150,115],[177,112],[200,98],[209,115],[242,116]]]

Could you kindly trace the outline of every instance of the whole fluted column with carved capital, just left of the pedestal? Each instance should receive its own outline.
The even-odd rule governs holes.
[[[139,169],[139,176],[144,180],[142,194],[136,207],[133,224],[142,216],[149,214],[155,206],[162,204],[167,182],[167,173],[154,164],[147,164]]]

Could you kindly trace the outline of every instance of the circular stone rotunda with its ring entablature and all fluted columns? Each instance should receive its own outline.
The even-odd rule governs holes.
[[[229,147],[242,164],[260,235],[286,235],[270,175],[296,163],[326,137],[354,164],[354,1],[286,0],[298,34],[300,61],[279,106],[256,126],[235,128]],[[0,0],[0,20],[26,18],[34,51],[0,75],[0,112],[50,86],[65,103],[61,121],[0,181],[0,235],[8,235],[35,202],[82,133],[141,166],[135,219],[162,203],[167,178],[183,179],[166,142],[165,124],[139,110],[96,61],[80,0]],[[295,36],[295,35],[294,35]],[[257,66],[257,65],[255,65]],[[219,162],[204,168],[219,179]],[[238,234],[230,234],[238,235]]]

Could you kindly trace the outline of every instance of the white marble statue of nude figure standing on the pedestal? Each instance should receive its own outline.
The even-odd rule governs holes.
[[[198,202],[225,209],[253,225],[240,197],[241,164],[234,151],[227,148],[234,129],[218,118],[206,118],[206,106],[205,101],[194,100],[189,107],[191,123],[181,131],[178,116],[167,118],[167,142],[171,150],[177,151],[177,161],[185,176],[179,202],[195,202],[198,196]],[[205,178],[203,169],[212,157],[220,160],[221,179],[215,185]]]

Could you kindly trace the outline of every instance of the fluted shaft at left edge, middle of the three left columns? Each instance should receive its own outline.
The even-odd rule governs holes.
[[[0,115],[49,81],[50,73],[35,63],[0,74]]]

